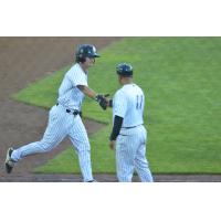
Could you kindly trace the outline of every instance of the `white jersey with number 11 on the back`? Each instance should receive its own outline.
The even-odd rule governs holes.
[[[122,127],[133,127],[144,124],[145,95],[136,84],[126,84],[118,90],[113,99],[113,117],[123,117]]]

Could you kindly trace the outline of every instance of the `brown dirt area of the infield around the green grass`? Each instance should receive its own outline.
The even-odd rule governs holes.
[[[55,150],[27,158],[11,175],[4,172],[7,148],[41,139],[48,110],[10,99],[10,95],[39,81],[74,60],[77,44],[92,43],[102,49],[120,38],[0,38],[0,181],[81,181],[80,175],[33,175],[33,168],[45,164],[69,145],[64,140]],[[102,127],[85,119],[88,134]],[[95,175],[98,181],[116,181],[113,175]],[[156,181],[221,181],[221,176],[155,176]],[[135,177],[137,181],[137,177]]]

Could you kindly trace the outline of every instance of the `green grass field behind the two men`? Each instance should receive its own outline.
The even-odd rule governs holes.
[[[157,172],[221,172],[221,38],[125,38],[99,52],[88,83],[99,93],[114,94],[115,66],[129,62],[134,80],[146,94],[145,125],[148,159]],[[64,67],[13,98],[51,107]],[[108,149],[112,112],[103,112],[86,98],[85,117],[107,124],[90,137],[94,172],[114,172],[114,152]],[[36,172],[80,172],[69,148]]]

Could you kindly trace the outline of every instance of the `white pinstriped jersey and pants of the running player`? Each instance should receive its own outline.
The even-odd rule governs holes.
[[[59,88],[60,105],[53,106],[49,113],[49,122],[43,138],[40,141],[31,143],[15,149],[11,158],[15,161],[27,156],[51,151],[66,136],[71,139],[84,181],[93,180],[91,166],[91,146],[86,129],[81,117],[66,113],[66,109],[78,109],[84,99],[84,94],[76,85],[87,85],[87,75],[75,64],[64,76]]]

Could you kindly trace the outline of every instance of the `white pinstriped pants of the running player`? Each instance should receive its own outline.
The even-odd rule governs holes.
[[[34,154],[46,152],[55,148],[66,136],[74,145],[84,181],[93,180],[91,165],[91,146],[81,117],[66,113],[61,105],[53,106],[49,114],[49,123],[40,141],[22,146],[12,152],[15,161]]]

